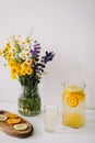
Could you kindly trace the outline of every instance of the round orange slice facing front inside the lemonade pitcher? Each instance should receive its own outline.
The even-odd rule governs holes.
[[[67,103],[68,103],[70,107],[74,108],[74,107],[76,107],[76,106],[79,105],[79,100],[78,100],[78,98],[76,98],[75,96],[70,95],[70,96],[67,98]]]

